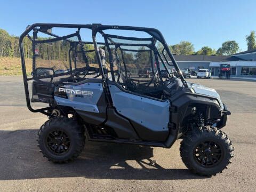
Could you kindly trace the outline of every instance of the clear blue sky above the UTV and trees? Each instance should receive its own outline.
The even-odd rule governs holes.
[[[246,51],[246,35],[256,30],[256,1],[4,1],[0,0],[0,28],[19,36],[32,23],[74,23],[153,27],[167,44],[189,41],[195,51],[217,50],[236,41]]]

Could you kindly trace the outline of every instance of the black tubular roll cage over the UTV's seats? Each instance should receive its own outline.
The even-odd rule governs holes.
[[[76,29],[76,31],[75,31],[75,33],[72,33],[69,35],[59,36],[59,35],[53,34],[51,32],[52,28],[74,28],[74,29]],[[81,29],[92,30],[92,42],[83,42],[82,41],[81,35],[79,33]],[[103,32],[104,30],[107,30],[107,29],[144,31],[147,34],[149,34],[151,37],[150,38],[135,38],[135,37],[122,37],[122,36],[116,36],[116,35],[109,35],[109,34],[105,34]],[[31,33],[31,32],[33,32],[33,35],[29,35],[29,33]],[[49,36],[51,36],[51,38],[37,39],[38,32],[49,35]],[[103,36],[105,43],[100,43],[100,42],[96,41],[97,33],[100,33]],[[28,39],[31,41],[31,44],[32,44],[32,52],[33,52],[32,74],[33,74],[33,77],[31,77],[31,78],[27,77],[27,71],[26,71],[25,55],[24,55],[24,49],[23,49],[23,39],[25,37],[28,37]],[[78,41],[72,41],[70,39],[72,37],[77,37]],[[118,43],[118,42],[113,41],[113,39],[123,39],[123,40],[127,40],[127,41],[135,41],[137,43],[135,43],[135,44],[134,43],[120,43],[120,42]],[[69,44],[69,50],[68,50],[69,69],[68,69],[68,71],[65,71],[65,73],[55,74],[54,70],[53,70],[52,75],[45,75],[45,76],[39,77],[36,73],[37,68],[38,68],[36,66],[36,57],[37,57],[36,45],[40,45],[40,44],[44,44],[44,43],[53,43],[53,42],[58,42],[58,41],[63,41],[63,42],[66,42],[67,44]],[[162,54],[156,49],[156,41],[159,41],[163,44]],[[93,45],[94,49],[84,50],[83,45],[85,45],[85,44]],[[118,80],[118,78],[121,78],[120,77],[121,74],[124,75],[125,77],[130,78],[129,70],[127,70],[127,63],[125,63],[125,60],[124,60],[124,51],[133,51],[133,52],[148,52],[149,53],[151,73],[155,75],[156,71],[157,71],[161,82],[163,82],[159,63],[162,62],[162,65],[164,66],[165,70],[167,71],[167,73],[169,73],[169,70],[167,70],[167,67],[165,65],[165,63],[167,63],[167,65],[170,65],[169,61],[166,58],[166,55],[164,54],[164,53],[166,53],[169,56],[169,58],[171,59],[172,65],[174,66],[175,70],[177,70],[183,85],[185,87],[188,87],[187,82],[185,81],[185,79],[182,76],[182,73],[180,72],[177,62],[175,61],[173,55],[171,54],[171,52],[169,50],[169,47],[167,46],[160,31],[158,31],[157,29],[143,28],[143,27],[129,27],[129,26],[106,26],[106,25],[101,25],[101,24],[73,25],[73,24],[57,24],[57,23],[35,23],[31,26],[28,26],[19,38],[19,48],[20,48],[21,66],[22,66],[22,73],[23,73],[23,82],[24,82],[24,86],[25,86],[26,102],[27,102],[27,106],[28,106],[29,110],[33,111],[33,112],[41,112],[45,115],[49,115],[48,113],[45,112],[45,110],[51,109],[51,107],[45,107],[45,108],[41,108],[41,109],[33,109],[31,107],[30,97],[29,97],[29,89],[28,89],[28,81],[30,81],[30,80],[36,80],[36,81],[39,81],[42,83],[46,83],[43,80],[50,79],[50,82],[47,82],[47,83],[52,86],[52,84],[54,83],[53,78],[66,76],[65,78],[61,78],[60,82],[54,83],[54,85],[57,86],[58,84],[67,82],[70,78],[74,78],[75,76],[82,75],[83,78],[85,78],[86,75],[95,75],[93,78],[97,78],[97,77],[101,76],[103,87],[105,87],[106,92],[109,92],[108,86],[106,83],[107,78],[108,78],[107,73],[109,72],[109,70],[106,70],[106,67],[104,67],[102,65],[102,55],[100,54],[99,46],[101,46],[103,49],[105,49],[106,51],[109,52],[108,62],[109,62],[109,69],[110,69],[112,81],[116,81],[116,80]],[[112,46],[114,46],[114,55],[116,57],[116,62],[117,62],[116,70],[114,68],[115,59],[113,58],[113,55],[111,54],[111,51],[113,50]],[[138,49],[135,49],[136,46],[137,47],[138,46],[146,47],[146,49],[138,50]],[[80,48],[79,50],[78,50],[78,47]],[[121,52],[121,55],[117,54],[117,50],[119,50]],[[74,68],[73,68],[72,62],[71,62],[71,58],[74,55],[71,55],[71,52],[75,52],[75,56],[76,56],[76,57],[74,57],[74,61],[73,61]],[[95,67],[95,66],[92,67],[89,65],[86,54],[90,53],[90,52],[95,52],[95,57],[97,58],[98,67]],[[85,63],[85,66],[81,67],[81,68],[77,67],[76,58],[77,58],[78,53],[81,53],[83,55],[82,58]],[[164,57],[165,61],[162,56]],[[121,57],[122,57],[122,61],[123,61],[123,69],[120,64]],[[154,65],[156,66],[156,71],[154,69]],[[47,69],[47,68],[45,68],[45,69]],[[117,79],[116,79],[115,73],[119,74],[118,75],[119,77],[117,77]],[[170,75],[170,73],[169,73],[169,75]]]

